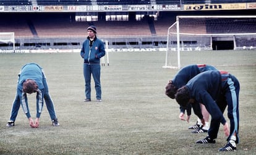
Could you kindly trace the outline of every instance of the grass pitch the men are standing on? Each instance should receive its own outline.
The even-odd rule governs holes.
[[[163,69],[164,52],[110,52],[101,67],[103,103],[84,103],[83,61],[79,53],[0,54],[0,154],[231,154],[221,125],[215,144],[198,145],[207,134],[192,134],[179,120],[179,106],[164,94],[177,70]],[[7,128],[17,74],[27,62],[45,70],[60,127],[51,126],[46,106],[39,128],[30,128],[20,108]],[[240,84],[240,138],[233,154],[255,154],[256,52],[182,52],[181,64],[210,64],[235,75]],[[94,82],[92,81],[92,86]],[[32,117],[35,94],[28,96]],[[224,117],[227,118],[226,112]],[[35,118],[35,117],[34,117]]]

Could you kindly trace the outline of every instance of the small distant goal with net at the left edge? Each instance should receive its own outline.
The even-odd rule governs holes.
[[[14,32],[0,32],[0,44],[2,46],[9,46],[15,50]]]

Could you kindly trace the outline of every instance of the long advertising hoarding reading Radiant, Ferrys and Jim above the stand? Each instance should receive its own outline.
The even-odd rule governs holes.
[[[104,5],[104,6],[0,6],[0,12],[121,12],[121,11],[174,11],[174,10],[244,10],[256,9],[256,3],[186,4],[186,5]]]

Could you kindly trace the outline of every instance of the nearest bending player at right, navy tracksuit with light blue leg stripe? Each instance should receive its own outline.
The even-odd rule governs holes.
[[[220,123],[224,125],[224,133],[228,136],[228,143],[219,151],[232,151],[239,143],[239,82],[236,77],[228,72],[210,70],[192,78],[187,85],[179,88],[176,101],[181,106],[202,103],[211,114],[211,124],[208,136],[197,143],[215,143]],[[223,117],[224,109],[228,106],[228,122]],[[200,110],[198,110],[200,112]]]

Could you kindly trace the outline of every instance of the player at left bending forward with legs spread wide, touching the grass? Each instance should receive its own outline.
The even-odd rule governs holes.
[[[36,120],[35,123],[28,109],[27,93],[36,93]],[[14,126],[20,104],[24,113],[27,115],[31,127],[39,126],[39,118],[43,110],[43,99],[45,99],[46,107],[54,126],[59,126],[58,119],[55,114],[53,100],[49,95],[48,84],[46,82],[45,73],[40,65],[35,63],[25,64],[20,69],[19,79],[17,83],[17,93],[12,104],[11,118],[7,122],[7,127]]]

